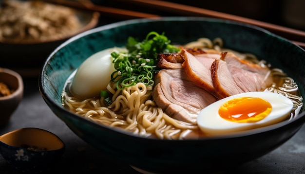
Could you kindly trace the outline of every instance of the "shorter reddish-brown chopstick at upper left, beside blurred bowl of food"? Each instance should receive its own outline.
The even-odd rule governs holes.
[[[71,0],[46,0],[46,1],[50,2],[50,3],[64,5],[67,7],[72,7],[72,8],[82,9],[82,10],[89,10],[89,11],[96,11],[96,12],[99,12],[100,14],[119,18],[119,19],[160,17],[160,16],[154,15],[154,14],[141,13],[141,12],[135,12],[135,11],[131,11],[131,10],[112,8],[112,7],[105,7],[105,6],[95,5],[93,3],[88,3],[88,2],[81,3],[81,2],[71,1]]]

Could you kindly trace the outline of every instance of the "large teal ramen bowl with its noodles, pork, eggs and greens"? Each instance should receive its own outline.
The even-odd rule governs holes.
[[[304,61],[299,46],[243,23],[134,19],[57,47],[39,90],[77,136],[140,172],[219,173],[301,128]]]

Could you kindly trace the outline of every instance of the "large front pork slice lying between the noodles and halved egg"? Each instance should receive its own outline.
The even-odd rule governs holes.
[[[188,80],[183,69],[160,70],[155,76],[152,97],[174,119],[196,124],[201,109],[217,98]]]

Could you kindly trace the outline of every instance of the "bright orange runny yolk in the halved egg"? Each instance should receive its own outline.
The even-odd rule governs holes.
[[[258,122],[271,112],[269,102],[258,97],[241,97],[221,105],[220,117],[231,122]]]

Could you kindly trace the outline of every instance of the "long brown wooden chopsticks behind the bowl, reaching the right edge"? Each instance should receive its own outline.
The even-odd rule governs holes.
[[[230,15],[226,13],[216,12],[212,10],[207,10],[203,8],[163,1],[163,0],[119,0],[119,1],[125,1],[128,3],[133,3],[137,5],[142,5],[145,7],[154,8],[157,10],[163,10],[167,12],[172,12],[174,14],[183,15],[183,16],[203,16],[203,17],[216,17],[216,18],[223,18],[223,19],[229,19],[234,21],[239,21],[243,23],[248,23],[252,25],[256,25],[259,27],[262,27],[276,35],[280,35],[284,38],[287,38],[291,40],[293,43],[305,48],[305,32],[279,26],[263,21],[258,21],[246,17],[239,17],[235,15]]]

